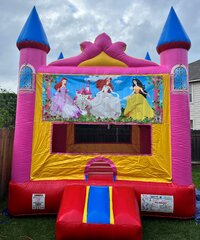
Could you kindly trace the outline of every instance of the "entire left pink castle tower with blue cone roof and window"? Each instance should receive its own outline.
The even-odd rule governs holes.
[[[20,50],[19,86],[15,138],[13,148],[12,181],[30,180],[33,121],[35,105],[35,77],[40,66],[46,65],[50,46],[42,23],[34,7],[17,39]]]

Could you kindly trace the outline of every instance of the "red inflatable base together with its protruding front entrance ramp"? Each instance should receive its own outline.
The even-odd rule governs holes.
[[[108,205],[112,208],[113,217],[110,210],[109,214],[106,213],[105,194],[99,194],[97,191],[93,206],[89,204],[88,188],[112,189]],[[43,196],[43,207],[34,207],[34,195]],[[167,212],[166,208],[164,211],[162,208],[153,211],[142,209],[142,196],[144,195],[158,197],[156,200],[158,205],[162,196],[171,197],[173,199],[171,211]],[[88,205],[86,201],[88,201]],[[104,209],[100,209],[98,212],[94,206],[103,206]],[[195,214],[195,187],[194,185],[177,186],[169,183],[113,182],[109,180],[10,182],[8,208],[9,213],[16,216],[58,213],[57,240],[64,240],[66,236],[67,239],[95,239],[96,236],[99,236],[102,239],[141,240],[140,215],[192,218]],[[86,221],[84,221],[85,208],[91,209],[90,216],[87,213]],[[97,221],[94,219],[95,215],[98,216]],[[107,217],[106,215],[108,215],[109,221],[101,221],[101,218]]]

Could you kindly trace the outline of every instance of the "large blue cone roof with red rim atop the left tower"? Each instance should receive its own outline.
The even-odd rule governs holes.
[[[38,48],[47,53],[50,50],[47,36],[35,7],[33,7],[17,39],[17,47],[19,50],[29,47]]]

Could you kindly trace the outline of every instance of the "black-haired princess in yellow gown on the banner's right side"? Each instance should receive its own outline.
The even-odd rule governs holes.
[[[144,90],[144,86],[140,80],[136,78],[133,79],[133,92],[128,96],[124,116],[139,121],[145,118],[153,118],[154,111],[146,100],[147,96],[148,93]]]

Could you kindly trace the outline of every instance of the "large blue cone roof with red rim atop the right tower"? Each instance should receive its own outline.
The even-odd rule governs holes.
[[[167,21],[164,25],[157,45],[157,52],[171,48],[184,48],[189,50],[191,41],[178,19],[173,7],[171,7]]]

